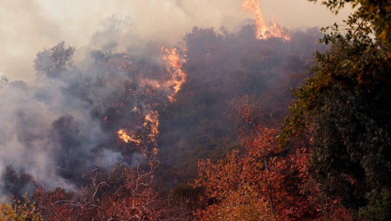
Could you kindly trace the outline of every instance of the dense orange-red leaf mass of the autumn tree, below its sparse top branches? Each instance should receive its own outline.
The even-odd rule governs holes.
[[[244,155],[234,151],[216,164],[199,162],[195,186],[206,189],[202,200],[207,209],[198,213],[203,220],[290,220],[318,209],[301,185],[307,179],[304,150],[271,157],[268,170],[260,155],[254,149]]]

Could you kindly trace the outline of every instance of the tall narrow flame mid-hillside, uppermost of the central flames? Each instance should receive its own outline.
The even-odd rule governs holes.
[[[173,102],[175,100],[173,96],[180,90],[180,87],[186,81],[186,73],[182,70],[183,61],[179,59],[176,48],[168,50],[167,48],[161,47],[161,51],[167,53],[166,55],[163,55],[161,59],[167,61],[170,65],[168,71],[171,71],[171,80],[166,83],[166,86],[174,89],[171,95],[167,96],[168,99]]]

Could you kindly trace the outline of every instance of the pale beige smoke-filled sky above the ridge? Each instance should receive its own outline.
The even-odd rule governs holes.
[[[0,75],[31,81],[38,51],[63,40],[80,48],[111,15],[128,16],[144,39],[174,43],[193,26],[237,30],[253,19],[241,4],[242,0],[0,0]],[[260,0],[260,5],[266,19],[274,16],[287,28],[341,23],[350,11],[334,16],[306,0]]]

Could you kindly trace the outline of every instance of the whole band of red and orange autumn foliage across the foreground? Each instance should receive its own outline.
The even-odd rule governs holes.
[[[157,151],[138,146],[135,165],[111,172],[98,166],[84,174],[78,191],[47,190],[36,183],[34,202],[2,203],[11,220],[350,220],[340,200],[323,196],[308,176],[310,136],[281,147],[279,130],[258,120],[248,97],[232,101],[243,149],[217,162],[198,162],[198,178],[189,188],[159,192],[153,174]],[[186,194],[190,193],[190,194]],[[176,195],[175,195],[176,194]],[[180,195],[179,194],[184,194]],[[14,209],[15,208],[15,209]],[[26,213],[26,214],[25,214]],[[18,216],[19,215],[19,216]],[[25,218],[23,218],[25,217]],[[35,219],[34,219],[35,218]]]

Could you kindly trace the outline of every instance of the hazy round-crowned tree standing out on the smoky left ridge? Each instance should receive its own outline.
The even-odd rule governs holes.
[[[66,47],[63,41],[53,48],[39,52],[34,60],[37,74],[59,77],[62,71],[72,66],[72,57],[75,50],[75,47]]]

